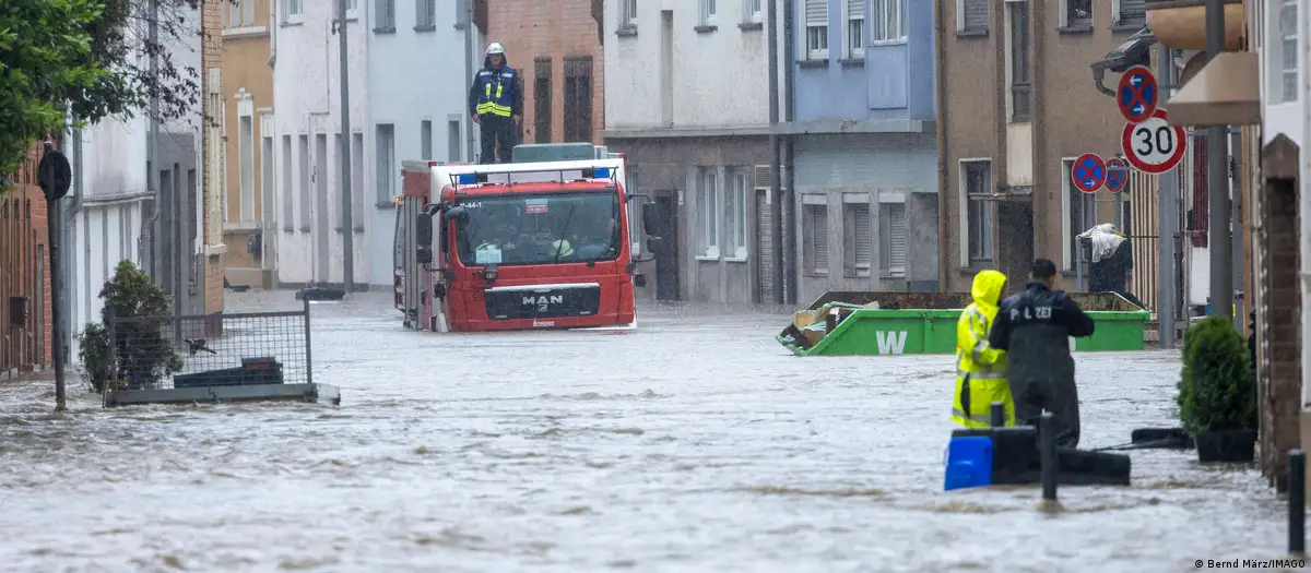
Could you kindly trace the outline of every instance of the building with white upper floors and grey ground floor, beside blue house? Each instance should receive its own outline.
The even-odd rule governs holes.
[[[628,191],[650,195],[661,221],[645,232],[665,239],[640,297],[770,298],[767,13],[767,0],[604,3],[602,139],[627,154]]]

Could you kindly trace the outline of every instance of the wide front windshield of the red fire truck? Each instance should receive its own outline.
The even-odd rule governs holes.
[[[614,260],[623,246],[615,190],[461,200],[455,250],[465,266]]]

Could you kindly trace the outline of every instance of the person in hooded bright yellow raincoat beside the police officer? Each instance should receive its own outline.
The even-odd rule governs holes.
[[[1006,425],[1015,425],[1015,400],[1006,377],[1006,351],[988,345],[987,335],[996,318],[998,302],[1006,288],[1006,275],[979,271],[970,296],[956,323],[956,399],[952,421],[966,428],[991,425],[992,403],[1006,404]]]

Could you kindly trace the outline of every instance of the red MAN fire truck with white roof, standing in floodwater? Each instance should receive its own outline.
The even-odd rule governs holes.
[[[646,285],[636,263],[650,259],[632,252],[627,204],[649,198],[624,192],[623,156],[591,144],[541,144],[519,145],[513,157],[402,164],[395,301],[405,326],[636,326],[633,289]],[[654,216],[642,212],[644,220]],[[658,250],[658,237],[648,242]]]

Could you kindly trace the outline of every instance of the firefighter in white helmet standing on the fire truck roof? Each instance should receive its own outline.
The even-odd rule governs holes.
[[[519,120],[523,119],[523,82],[519,72],[505,60],[505,47],[499,42],[488,44],[482,69],[473,76],[469,88],[469,114],[481,127],[482,153],[480,164],[509,164]],[[497,161],[496,150],[501,153]]]

